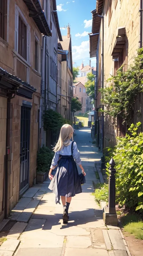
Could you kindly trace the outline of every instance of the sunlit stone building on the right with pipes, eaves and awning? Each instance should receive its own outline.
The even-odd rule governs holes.
[[[117,117],[117,124],[113,126],[112,119],[98,111],[101,108],[98,89],[108,85],[106,80],[122,65],[126,71],[133,63],[136,50],[142,47],[142,1],[97,0],[92,17],[90,57],[97,57],[95,123],[97,144],[102,150],[115,145],[116,136],[126,134],[126,125]]]

